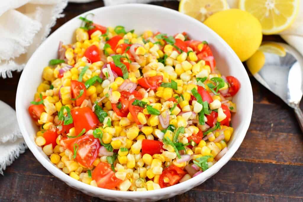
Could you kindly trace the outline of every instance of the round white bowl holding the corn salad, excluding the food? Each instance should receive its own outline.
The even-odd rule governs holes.
[[[48,65],[50,59],[57,57],[57,48],[60,40],[64,43],[72,42],[74,31],[81,24],[78,17],[85,16],[88,13],[94,13],[94,22],[105,26],[123,25],[126,30],[135,29],[136,33],[152,30],[168,33],[168,35],[186,31],[193,39],[208,41],[215,56],[217,67],[222,72],[222,75],[235,76],[241,82],[241,89],[234,97],[238,112],[232,116],[232,125],[235,130],[228,143],[229,150],[214,166],[190,180],[160,190],[145,192],[115,191],[93,187],[69,177],[55,167],[43,153],[41,147],[35,144],[35,134],[38,128],[28,114],[28,106],[42,81],[43,68]],[[180,12],[160,6],[125,4],[96,8],[79,16],[62,25],[40,45],[25,66],[18,84],[16,97],[18,123],[28,148],[37,160],[49,172],[69,186],[94,197],[117,201],[167,199],[198,186],[217,173],[239,148],[251,121],[253,106],[251,84],[245,68],[235,52],[222,38],[203,23]]]

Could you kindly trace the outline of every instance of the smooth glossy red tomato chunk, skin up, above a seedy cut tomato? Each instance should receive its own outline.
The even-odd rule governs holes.
[[[91,108],[83,107],[72,109],[71,113],[74,120],[76,135],[78,135],[83,128],[87,132],[99,124],[98,117],[92,112]]]

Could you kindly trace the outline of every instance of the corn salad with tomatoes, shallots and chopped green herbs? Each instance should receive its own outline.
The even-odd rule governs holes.
[[[53,164],[95,187],[146,191],[195,177],[227,152],[240,83],[220,74],[206,41],[80,19],[28,108]]]

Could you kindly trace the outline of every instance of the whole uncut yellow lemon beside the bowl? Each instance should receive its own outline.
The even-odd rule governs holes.
[[[204,23],[230,45],[241,61],[250,58],[261,45],[261,24],[249,12],[240,9],[220,11]]]

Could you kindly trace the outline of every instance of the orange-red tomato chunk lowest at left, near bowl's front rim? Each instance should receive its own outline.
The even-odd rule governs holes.
[[[122,182],[115,176],[111,165],[104,162],[100,162],[92,171],[92,179],[97,182],[98,187],[105,189],[113,189]]]

